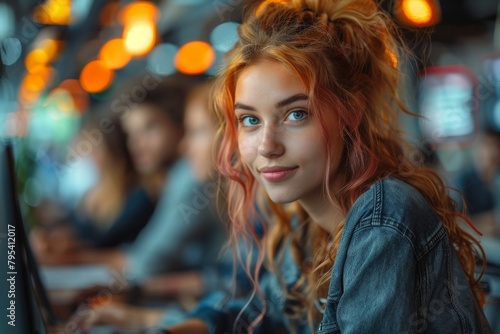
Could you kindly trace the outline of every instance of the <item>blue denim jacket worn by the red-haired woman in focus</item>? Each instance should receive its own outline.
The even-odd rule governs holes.
[[[288,259],[283,269],[292,284],[297,267]],[[255,332],[309,332],[304,321],[286,320],[274,275],[261,289],[267,309]],[[318,333],[491,333],[438,217],[417,190],[393,178],[375,183],[351,208],[325,298]],[[258,298],[213,295],[191,317],[212,333],[246,333],[260,309]]]

